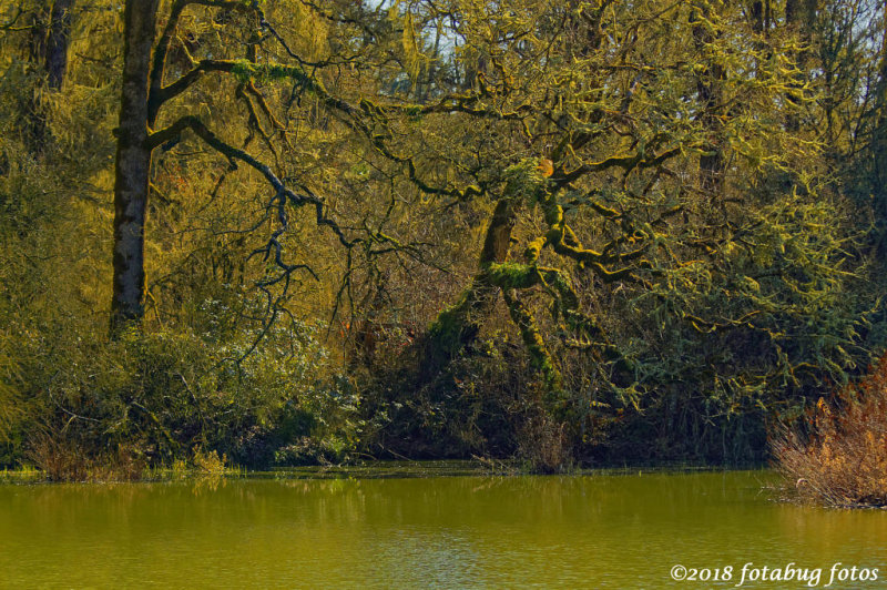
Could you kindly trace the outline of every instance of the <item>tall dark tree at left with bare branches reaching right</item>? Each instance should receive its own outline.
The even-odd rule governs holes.
[[[207,57],[195,60],[186,47],[184,73],[172,82],[166,82],[167,58],[176,40],[183,13],[190,7],[203,7],[220,11],[218,21],[230,22],[221,16],[241,13],[251,16],[248,22],[258,27],[247,35],[239,48],[239,59],[217,59]],[[322,96],[322,102],[344,115],[355,115],[357,110],[345,101],[326,93],[319,79],[319,70],[328,63],[309,62],[295,53],[286,40],[269,24],[259,2],[228,0],[175,0],[165,17],[165,26],[157,35],[159,0],[129,0],[124,8],[124,65],[120,101],[120,125],[118,128],[118,152],[114,184],[114,279],[111,302],[111,327],[116,333],[132,322],[139,322],[143,314],[145,294],[145,215],[150,193],[152,155],[163,144],[176,143],[185,131],[193,132],[207,148],[227,159],[232,165],[246,164],[268,183],[273,195],[266,207],[266,217],[274,218],[277,227],[271,237],[256,251],[276,267],[277,274],[263,279],[259,287],[288,284],[290,274],[296,271],[312,273],[306,264],[290,264],[284,258],[281,236],[289,227],[290,210],[308,207],[315,212],[318,226],[333,232],[346,247],[354,245],[339,225],[327,216],[326,204],[309,187],[298,184],[298,193],[289,189],[272,165],[259,161],[243,149],[235,148],[211,131],[196,114],[184,114],[162,129],[156,129],[162,120],[163,108],[195,85],[205,74],[216,73],[238,81],[238,96],[248,110],[245,125],[253,125],[266,142],[271,138],[261,129],[259,118],[267,118],[273,125],[279,125],[268,110],[263,94],[248,82],[253,78],[293,80],[300,91],[312,91]],[[278,43],[282,55],[290,63],[256,61],[257,39]],[[156,39],[156,41],[155,41]],[[312,68],[308,73],[307,67]],[[294,91],[295,95],[295,91]],[[261,222],[256,225],[258,226]]]

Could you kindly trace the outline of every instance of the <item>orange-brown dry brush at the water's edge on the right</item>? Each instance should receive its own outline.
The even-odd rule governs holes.
[[[859,384],[819,403],[809,435],[772,439],[776,466],[798,498],[827,506],[887,506],[887,355]]]

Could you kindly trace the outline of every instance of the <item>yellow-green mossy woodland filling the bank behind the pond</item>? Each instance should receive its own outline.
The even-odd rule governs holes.
[[[0,466],[765,461],[887,343],[886,28],[0,0]]]

